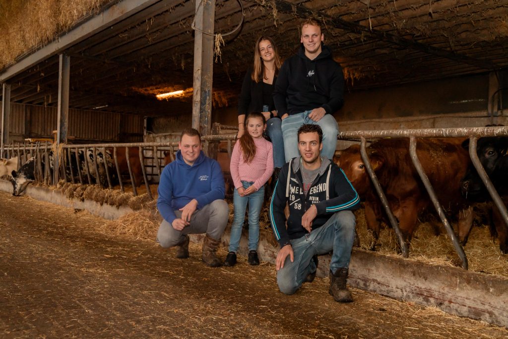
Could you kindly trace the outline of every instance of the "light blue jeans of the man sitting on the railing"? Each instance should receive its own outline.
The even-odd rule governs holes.
[[[337,148],[337,134],[339,133],[337,120],[335,120],[333,115],[325,114],[321,120],[316,122],[309,118],[310,112],[311,110],[292,114],[282,120],[281,129],[286,162],[300,155],[298,150],[298,129],[303,124],[319,125],[321,127],[323,130],[323,149],[321,150],[321,155],[333,160],[335,148]]]

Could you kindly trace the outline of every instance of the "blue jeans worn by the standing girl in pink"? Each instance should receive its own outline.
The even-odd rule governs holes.
[[[248,189],[254,182],[243,181],[243,189]],[[247,209],[247,203],[249,205],[249,251],[258,250],[259,242],[259,214],[261,213],[261,207],[263,206],[263,200],[265,197],[265,187],[263,186],[257,192],[249,194],[245,197],[240,197],[238,190],[235,189],[233,193],[233,205],[234,205],[234,219],[233,225],[231,225],[231,239],[229,241],[229,252],[238,252],[238,246],[240,244],[240,237],[242,236],[243,221],[245,220],[245,210]]]

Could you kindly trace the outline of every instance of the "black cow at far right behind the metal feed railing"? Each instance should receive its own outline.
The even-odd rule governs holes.
[[[462,145],[464,148],[468,148],[469,140],[464,141]],[[506,174],[508,173],[507,151],[508,137],[484,137],[478,139],[478,158],[505,206],[508,204],[508,180],[506,179]],[[461,190],[464,197],[469,200],[475,202],[491,200],[483,180],[473,166],[469,167],[466,175],[463,177]],[[508,226],[506,226],[506,222],[495,204],[492,206],[491,213],[491,234],[498,236],[499,249],[503,254],[508,254]]]

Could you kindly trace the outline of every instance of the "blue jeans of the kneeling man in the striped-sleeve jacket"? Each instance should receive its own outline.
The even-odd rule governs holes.
[[[355,214],[340,211],[332,215],[325,225],[312,230],[305,236],[291,240],[294,261],[285,259],[284,267],[277,271],[277,285],[284,294],[295,293],[306,276],[314,272],[312,257],[333,251],[330,270],[335,273],[339,267],[349,267],[351,250],[355,241]]]

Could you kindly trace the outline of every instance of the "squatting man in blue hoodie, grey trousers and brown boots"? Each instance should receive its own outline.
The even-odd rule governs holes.
[[[202,260],[210,267],[221,266],[215,251],[229,218],[223,172],[201,150],[197,130],[184,130],[178,149],[176,160],[162,171],[157,190],[157,208],[164,218],[157,241],[164,248],[177,246],[176,257],[185,259],[188,234],[206,233]]]

